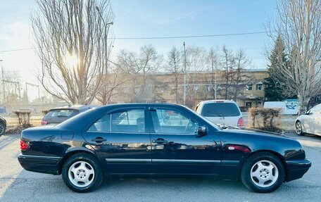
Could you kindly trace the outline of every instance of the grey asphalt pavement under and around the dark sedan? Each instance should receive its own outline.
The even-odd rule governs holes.
[[[113,179],[87,194],[70,191],[61,175],[20,167],[19,135],[0,137],[0,201],[321,201],[321,137],[298,137],[312,167],[301,179],[270,194],[248,191],[241,182],[213,179]]]

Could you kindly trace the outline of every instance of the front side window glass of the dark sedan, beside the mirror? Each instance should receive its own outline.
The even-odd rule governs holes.
[[[151,111],[156,133],[195,134],[198,125],[177,111],[156,109]]]

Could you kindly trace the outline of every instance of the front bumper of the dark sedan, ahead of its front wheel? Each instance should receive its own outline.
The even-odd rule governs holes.
[[[311,162],[307,158],[304,160],[287,160],[287,177],[285,181],[290,182],[301,178],[311,167]]]

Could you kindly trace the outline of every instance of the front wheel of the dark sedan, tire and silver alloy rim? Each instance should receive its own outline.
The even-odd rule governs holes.
[[[241,170],[241,181],[248,189],[270,193],[284,182],[285,170],[279,158],[272,153],[257,153],[246,160]]]

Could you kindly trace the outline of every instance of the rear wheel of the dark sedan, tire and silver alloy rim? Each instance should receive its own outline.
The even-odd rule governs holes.
[[[96,158],[87,153],[77,153],[65,161],[63,181],[73,191],[88,192],[103,182],[103,171]]]

